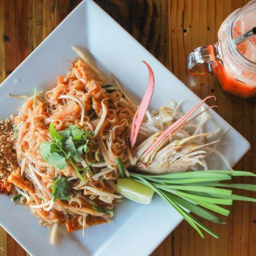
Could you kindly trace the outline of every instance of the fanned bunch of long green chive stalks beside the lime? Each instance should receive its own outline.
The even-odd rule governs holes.
[[[201,229],[216,238],[218,238],[218,235],[185,211],[184,208],[206,220],[223,223],[219,217],[208,210],[228,216],[229,211],[218,204],[231,205],[233,200],[256,202],[255,198],[233,195],[232,190],[217,188],[230,187],[256,191],[256,185],[219,183],[222,180],[232,179],[232,176],[256,176],[251,172],[214,170],[163,175],[145,175],[130,172],[130,175],[131,179],[135,179],[153,189],[172,205],[202,237],[204,235]]]

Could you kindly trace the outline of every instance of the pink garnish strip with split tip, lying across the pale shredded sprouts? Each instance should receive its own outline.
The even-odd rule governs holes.
[[[199,102],[194,108],[190,109],[188,111],[187,114],[183,115],[180,119],[178,119],[175,123],[173,123],[172,125],[170,125],[163,133],[161,133],[159,135],[159,137],[150,145],[150,147],[145,151],[145,153],[142,155],[142,158],[144,158],[145,156],[147,156],[147,154],[150,153],[151,150],[153,150],[154,148],[156,148],[161,142],[163,142],[167,137],[169,137],[170,134],[174,134],[176,133],[179,128],[185,127],[188,123],[190,123],[191,121],[193,121],[197,116],[201,115],[204,111],[208,110],[205,109],[204,111],[202,111],[201,113],[199,113],[198,115],[196,115],[194,118],[190,119],[189,121],[187,121],[187,119],[207,100],[210,98],[214,98],[216,100],[216,98],[214,96],[208,96],[206,97],[204,100],[202,100],[201,102]],[[215,106],[213,106],[215,107]],[[212,107],[211,107],[212,108]],[[187,122],[186,122],[187,121]]]

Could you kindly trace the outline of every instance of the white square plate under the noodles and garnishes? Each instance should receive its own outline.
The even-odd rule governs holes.
[[[50,34],[29,57],[0,86],[0,119],[17,113],[23,101],[10,99],[12,94],[33,94],[34,88],[52,87],[59,74],[65,74],[76,53],[71,46],[88,49],[100,68],[113,73],[135,97],[141,98],[148,80],[148,72],[141,60],[146,60],[155,73],[156,85],[151,106],[158,108],[187,99],[182,110],[187,111],[199,98],[166,69],[153,55],[119,26],[91,0],[83,1]],[[230,125],[211,111],[215,122],[227,130]],[[221,139],[218,149],[234,165],[250,148],[233,127]],[[225,168],[214,158],[211,166]],[[112,225],[94,226],[67,235],[58,232],[58,239],[50,245],[50,230],[39,227],[38,219],[23,205],[0,196],[0,224],[31,255],[149,255],[180,223],[182,218],[162,199],[155,196],[150,205],[124,201],[118,204]]]

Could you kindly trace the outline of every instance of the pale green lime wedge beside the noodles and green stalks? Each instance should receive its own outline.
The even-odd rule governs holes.
[[[118,179],[116,190],[124,197],[140,204],[150,204],[154,195],[154,190],[130,179]]]

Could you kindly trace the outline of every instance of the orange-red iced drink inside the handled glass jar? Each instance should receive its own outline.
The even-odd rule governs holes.
[[[220,60],[215,59],[212,69],[223,90],[243,98],[254,97],[256,95],[256,68],[247,70],[247,68],[244,68],[243,61],[238,61],[237,58],[234,58],[234,55],[238,53],[239,59],[245,58],[247,61],[256,63],[256,37],[247,39],[237,46],[234,45],[233,47],[236,47],[237,52],[232,52],[228,44],[222,43],[227,39],[225,37],[227,23],[230,22],[229,19],[230,17],[222,23],[218,32],[220,41],[218,48],[223,65]],[[255,25],[256,10],[241,15],[233,25],[232,38],[235,39],[243,35]]]

